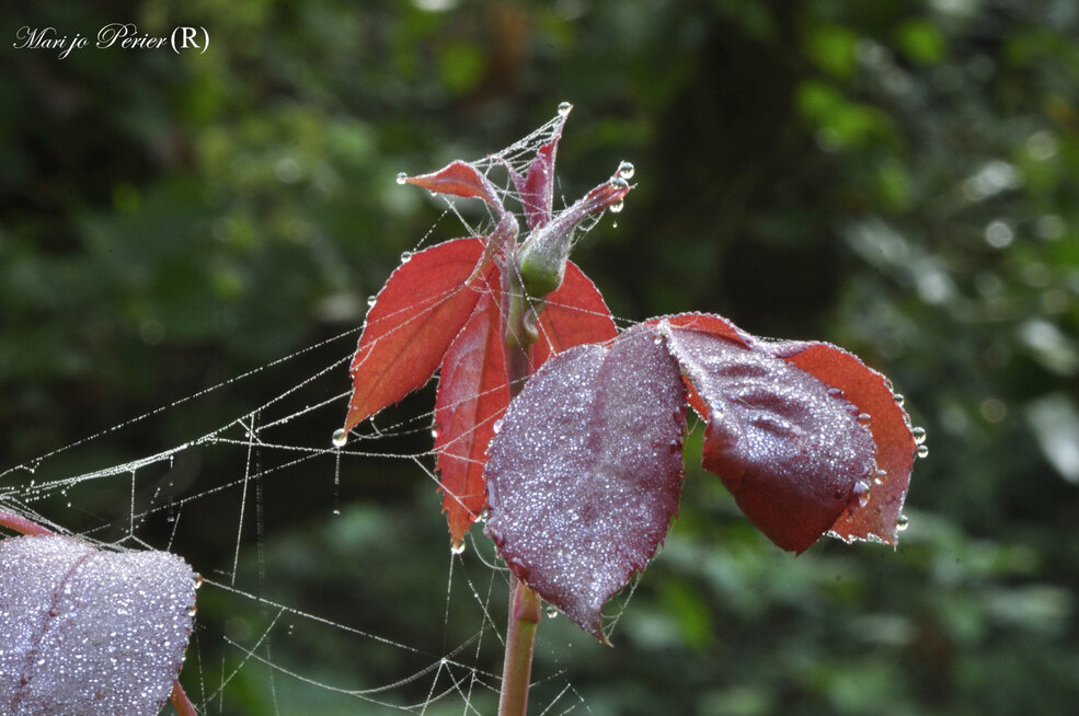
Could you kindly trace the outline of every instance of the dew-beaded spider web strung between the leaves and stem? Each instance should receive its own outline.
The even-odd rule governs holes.
[[[506,168],[524,172],[563,118],[474,162],[505,199],[516,200]],[[467,204],[469,213],[447,201],[411,251],[433,242],[446,218],[471,235],[485,233],[493,218],[471,212],[479,201]],[[346,444],[331,443],[347,409],[358,334],[347,331],[0,471],[2,509],[102,547],[168,550],[192,563],[203,586],[181,680],[202,714],[496,708],[508,571],[479,528],[463,554],[448,547],[434,489],[429,388],[354,429]],[[195,425],[191,437],[141,455],[116,452],[128,432],[183,424],[241,383],[279,385],[297,366],[306,370],[301,379],[271,389],[271,397],[219,427]],[[412,503],[348,497],[354,484],[401,475],[416,483]],[[627,592],[608,609],[609,628],[632,587]],[[560,655],[606,650],[564,619],[546,621],[530,711],[588,713]]]

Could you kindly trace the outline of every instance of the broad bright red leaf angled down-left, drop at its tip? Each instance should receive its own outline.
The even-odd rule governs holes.
[[[447,241],[416,253],[390,275],[353,356],[345,430],[431,379],[480,298],[466,281],[483,247],[480,239]]]

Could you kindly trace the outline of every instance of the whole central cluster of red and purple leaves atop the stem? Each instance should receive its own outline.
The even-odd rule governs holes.
[[[510,170],[544,246],[567,245],[579,220],[629,192],[616,175],[552,215],[561,131],[524,176]],[[602,604],[645,567],[677,511],[687,404],[707,425],[704,469],[780,547],[802,552],[826,532],[896,543],[917,444],[883,376],[836,346],[764,340],[716,315],[651,319],[618,335],[592,281],[544,253],[556,255],[561,284],[529,303],[535,376],[510,405],[509,279],[519,250],[539,244],[518,241],[516,217],[472,164],[404,181],[482,199],[498,220],[390,276],[352,362],[345,430],[440,371],[435,449],[455,545],[486,507],[509,568],[604,639]]]

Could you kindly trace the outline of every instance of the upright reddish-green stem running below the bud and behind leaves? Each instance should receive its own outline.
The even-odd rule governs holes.
[[[528,347],[536,342],[535,309],[525,296],[516,256],[510,255],[503,272],[503,298],[506,311],[506,371],[510,399],[516,397],[528,380]],[[529,330],[531,327],[531,330]],[[506,656],[502,667],[502,693],[498,716],[526,716],[528,684],[532,674],[532,648],[542,609],[539,596],[517,575],[509,575],[509,620],[506,625]]]

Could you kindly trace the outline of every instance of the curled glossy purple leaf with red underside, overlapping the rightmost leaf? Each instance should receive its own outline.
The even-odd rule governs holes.
[[[772,542],[803,552],[869,489],[872,434],[838,390],[770,344],[736,330],[732,339],[725,322],[720,335],[698,327],[659,324],[708,406],[703,465]]]

